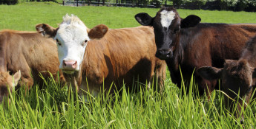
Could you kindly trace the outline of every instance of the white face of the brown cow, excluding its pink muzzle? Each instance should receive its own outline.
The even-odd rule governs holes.
[[[85,24],[75,15],[65,15],[59,25],[56,39],[61,44],[58,44],[59,68],[63,69],[63,60],[73,60],[77,63],[75,70],[79,71],[87,46],[85,41],[90,40]]]

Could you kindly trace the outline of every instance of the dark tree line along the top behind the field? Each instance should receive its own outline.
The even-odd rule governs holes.
[[[0,4],[17,4],[21,0],[0,0]],[[22,1],[55,1],[56,0],[22,0]],[[74,0],[76,1],[76,0]],[[126,7],[166,7],[192,10],[233,10],[256,12],[256,0],[78,0],[90,4],[101,4]]]

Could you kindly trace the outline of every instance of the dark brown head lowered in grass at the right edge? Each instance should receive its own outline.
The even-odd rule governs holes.
[[[207,80],[222,80],[223,91],[229,96],[225,96],[226,107],[234,109],[233,100],[237,100],[237,95],[249,102],[252,88],[255,86],[256,69],[252,68],[247,60],[226,60],[223,69],[204,66],[197,70],[201,77]],[[230,100],[232,98],[232,100]],[[238,100],[237,109],[241,110],[243,100]],[[246,105],[245,105],[246,107]]]

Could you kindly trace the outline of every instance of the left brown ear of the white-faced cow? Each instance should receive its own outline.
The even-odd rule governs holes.
[[[37,24],[36,31],[42,34],[43,36],[47,36],[48,38],[55,38],[58,28],[53,28],[48,24]]]

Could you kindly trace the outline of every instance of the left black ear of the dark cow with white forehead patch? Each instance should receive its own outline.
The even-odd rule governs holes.
[[[135,15],[135,19],[143,26],[153,26],[153,20],[148,13],[138,13]]]

